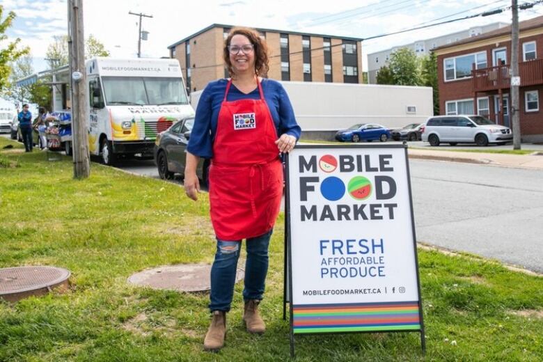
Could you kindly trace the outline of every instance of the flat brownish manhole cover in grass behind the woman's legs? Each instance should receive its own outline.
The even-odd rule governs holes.
[[[178,290],[179,292],[201,292],[210,290],[211,265],[182,264],[167,265],[155,269],[143,270],[128,278],[128,282],[152,289]],[[237,269],[236,283],[245,275],[243,269]]]

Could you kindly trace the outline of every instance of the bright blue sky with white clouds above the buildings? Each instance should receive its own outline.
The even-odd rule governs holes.
[[[111,56],[135,57],[138,47],[139,17],[148,40],[141,42],[142,57],[169,56],[168,45],[214,23],[252,26],[264,29],[299,31],[369,38],[409,29],[420,24],[442,22],[510,5],[510,0],[82,0],[85,36],[93,35]],[[519,0],[519,3],[530,0]],[[68,6],[65,0],[1,0],[4,14],[17,15],[6,31],[10,40],[21,39],[31,48],[34,70],[45,70],[43,61],[53,36],[67,33]],[[450,15],[450,16],[449,16]],[[519,12],[520,20],[543,15],[543,4]],[[510,10],[498,15],[475,17],[428,29],[411,31],[362,42],[363,70],[366,56],[417,40],[494,22],[507,22]],[[0,44],[3,46],[3,44]]]

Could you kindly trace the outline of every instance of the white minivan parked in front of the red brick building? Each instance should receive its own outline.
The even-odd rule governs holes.
[[[476,143],[480,146],[489,143],[505,144],[512,141],[509,127],[496,125],[491,120],[478,115],[434,116],[423,126],[423,141],[437,146],[441,142],[450,145],[457,143]]]

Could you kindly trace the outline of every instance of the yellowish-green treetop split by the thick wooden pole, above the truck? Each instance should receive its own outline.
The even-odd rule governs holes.
[[[68,36],[54,36],[53,42],[47,47],[49,68],[54,69],[68,64]],[[109,56],[106,47],[92,34],[85,42],[85,58],[93,56]]]

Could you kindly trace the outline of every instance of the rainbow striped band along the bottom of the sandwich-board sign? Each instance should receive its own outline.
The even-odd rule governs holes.
[[[418,301],[292,305],[294,333],[420,331]]]

